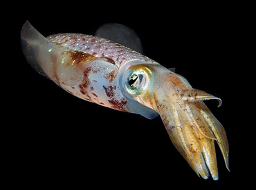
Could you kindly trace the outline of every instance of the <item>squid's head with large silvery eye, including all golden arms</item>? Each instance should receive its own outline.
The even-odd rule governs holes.
[[[220,98],[193,89],[183,76],[161,65],[127,65],[121,81],[123,93],[134,101],[130,109],[147,112],[141,104],[158,113],[172,143],[198,175],[206,179],[211,174],[218,179],[214,140],[228,168],[226,132],[203,103],[216,99],[220,106]]]

